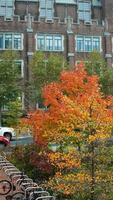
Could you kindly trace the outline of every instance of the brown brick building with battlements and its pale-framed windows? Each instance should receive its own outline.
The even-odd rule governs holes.
[[[0,0],[0,50],[18,51],[23,82],[39,50],[72,65],[96,50],[112,66],[112,18],[113,0]]]

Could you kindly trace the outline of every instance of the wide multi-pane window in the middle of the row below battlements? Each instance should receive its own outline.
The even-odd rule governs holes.
[[[63,51],[63,36],[57,34],[37,34],[37,50]]]

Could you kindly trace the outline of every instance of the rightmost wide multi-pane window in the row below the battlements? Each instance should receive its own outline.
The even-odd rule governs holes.
[[[76,51],[77,52],[92,52],[101,51],[100,36],[76,36]]]

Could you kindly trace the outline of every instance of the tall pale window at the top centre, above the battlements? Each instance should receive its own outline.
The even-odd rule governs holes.
[[[51,20],[53,18],[54,0],[40,0],[40,17]]]

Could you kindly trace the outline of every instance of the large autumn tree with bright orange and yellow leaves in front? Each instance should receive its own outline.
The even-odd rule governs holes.
[[[33,112],[28,120],[38,145],[60,145],[49,153],[56,173],[46,186],[62,199],[113,198],[113,147],[107,145],[113,130],[113,97],[103,95],[98,81],[81,64],[63,72],[59,82],[43,89],[48,110]]]

